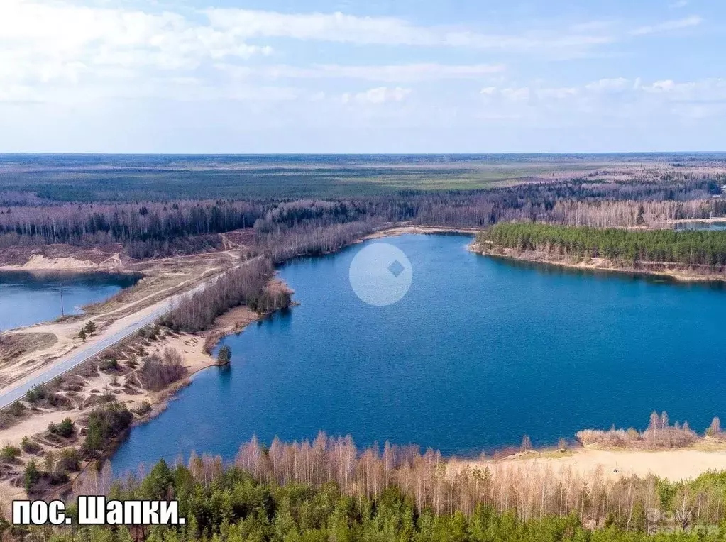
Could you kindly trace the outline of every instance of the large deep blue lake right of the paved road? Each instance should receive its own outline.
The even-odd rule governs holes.
[[[119,471],[179,453],[231,458],[269,443],[351,434],[472,454],[643,428],[653,409],[698,430],[726,415],[726,291],[485,258],[468,237],[386,239],[412,287],[375,308],[348,284],[356,245],[280,274],[301,305],[224,343],[232,366],[195,377],[114,456]]]

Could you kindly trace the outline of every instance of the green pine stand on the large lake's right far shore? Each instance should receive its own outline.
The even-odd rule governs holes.
[[[715,270],[726,266],[726,231],[595,229],[499,223],[479,233],[477,242],[575,258],[678,263],[683,266],[708,266]]]

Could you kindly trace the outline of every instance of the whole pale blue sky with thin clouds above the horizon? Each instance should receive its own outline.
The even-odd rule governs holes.
[[[0,152],[726,150],[722,0],[0,0]]]

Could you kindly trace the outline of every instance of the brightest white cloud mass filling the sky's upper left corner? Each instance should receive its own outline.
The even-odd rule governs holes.
[[[0,84],[128,79],[269,52],[171,12],[0,2]]]

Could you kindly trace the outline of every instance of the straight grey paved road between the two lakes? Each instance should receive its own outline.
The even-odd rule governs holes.
[[[109,337],[105,337],[104,339],[99,340],[99,342],[96,342],[93,345],[88,345],[86,348],[83,348],[81,351],[76,353],[76,355],[72,358],[68,358],[67,360],[62,361],[59,364],[55,364],[49,367],[47,371],[44,371],[37,377],[28,380],[28,382],[23,382],[17,385],[17,387],[14,387],[9,392],[4,393],[0,396],[0,408],[5,408],[10,404],[15,403],[15,401],[17,401],[18,399],[23,398],[25,393],[27,393],[28,390],[32,389],[33,387],[41,385],[44,382],[49,382],[54,378],[60,377],[60,375],[67,373],[71,369],[75,369],[77,366],[82,364],[83,361],[87,361],[93,356],[97,356],[97,354],[103,352],[103,350],[106,350],[107,348],[115,345],[117,342],[126,339],[126,337],[129,337],[129,335],[139,331],[139,329],[141,329],[142,327],[151,324],[156,319],[164,316],[166,313],[171,311],[174,303],[181,297],[200,292],[208,287],[210,284],[216,282],[217,279],[219,279],[219,276],[215,277],[209,282],[200,284],[192,290],[189,290],[189,292],[185,292],[184,294],[179,294],[169,298],[163,305],[160,306],[160,308],[156,309],[154,312],[148,314],[147,316],[143,316],[139,320],[134,321],[133,324],[129,324],[125,328],[121,329],[121,331],[118,331],[113,335],[110,335]]]

